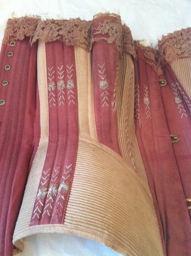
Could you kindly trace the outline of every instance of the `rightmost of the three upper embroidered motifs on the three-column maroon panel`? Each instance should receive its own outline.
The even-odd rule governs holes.
[[[67,89],[69,90],[68,91],[68,101],[69,101],[69,105],[71,103],[73,103],[74,105],[76,104],[75,103],[75,100],[76,100],[76,97],[74,97],[74,92],[73,92],[73,88],[74,88],[74,81],[72,78],[73,76],[73,64],[69,67],[67,65],[67,77],[68,77],[68,81],[67,81]]]

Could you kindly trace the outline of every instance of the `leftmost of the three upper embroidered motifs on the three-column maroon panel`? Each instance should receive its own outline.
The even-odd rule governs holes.
[[[54,73],[55,71],[53,70],[54,66],[52,66],[51,68],[48,68],[48,91],[50,92],[48,95],[48,103],[49,103],[49,107],[52,106],[56,106],[56,101],[55,101],[55,94],[53,93],[53,91],[56,88],[55,82],[53,81],[54,79]]]

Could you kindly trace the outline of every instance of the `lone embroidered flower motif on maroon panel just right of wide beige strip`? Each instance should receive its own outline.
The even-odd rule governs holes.
[[[103,65],[99,65],[98,67],[100,69],[98,69],[99,72],[99,77],[101,78],[101,81],[99,82],[99,89],[103,90],[102,93],[102,107],[107,106],[109,107],[109,92],[107,91],[107,89],[109,89],[109,84],[107,83],[107,81],[105,80],[106,74],[105,74],[105,62],[103,63]]]

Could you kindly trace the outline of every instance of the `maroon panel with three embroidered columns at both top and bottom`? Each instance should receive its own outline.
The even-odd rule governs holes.
[[[63,223],[78,149],[74,47],[46,43],[46,65],[49,143],[30,226]]]

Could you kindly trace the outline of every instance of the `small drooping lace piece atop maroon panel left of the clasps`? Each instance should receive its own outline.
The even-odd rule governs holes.
[[[153,47],[151,46],[144,46],[142,44],[140,44],[140,41],[134,41],[135,47],[136,49],[139,47],[145,55],[145,62],[148,63],[153,70],[155,71],[157,76],[162,75],[162,69],[161,69],[161,65],[160,62],[156,61],[155,58],[155,50],[153,49]]]

